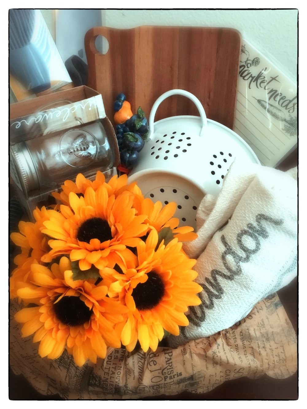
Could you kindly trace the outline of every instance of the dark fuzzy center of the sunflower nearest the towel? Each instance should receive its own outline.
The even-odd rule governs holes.
[[[145,283],[139,283],[132,291],[132,297],[138,310],[151,310],[161,301],[165,288],[162,278],[156,272],[147,274]]]

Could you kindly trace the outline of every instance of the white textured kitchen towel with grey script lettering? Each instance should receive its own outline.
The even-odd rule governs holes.
[[[190,325],[169,336],[170,346],[229,328],[296,276],[296,173],[235,161],[219,195],[203,198],[198,238],[184,245],[197,258],[202,303],[190,308]]]

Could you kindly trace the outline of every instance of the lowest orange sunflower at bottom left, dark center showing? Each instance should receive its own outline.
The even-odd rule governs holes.
[[[18,296],[38,306],[23,308],[15,315],[23,323],[23,337],[34,334],[33,342],[40,342],[38,353],[56,359],[66,347],[77,365],[89,359],[105,358],[107,346],[120,347],[114,330],[126,308],[106,297],[108,288],[91,280],[74,280],[67,257],[51,268],[31,265],[33,280],[20,288]]]

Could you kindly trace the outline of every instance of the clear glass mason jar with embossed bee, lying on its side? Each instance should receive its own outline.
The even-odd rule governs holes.
[[[29,198],[35,191],[56,190],[78,173],[86,177],[113,167],[115,142],[101,121],[52,132],[10,147],[10,170],[15,184]]]

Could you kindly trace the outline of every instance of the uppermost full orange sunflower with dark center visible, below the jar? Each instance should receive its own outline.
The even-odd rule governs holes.
[[[148,230],[143,223],[147,216],[136,216],[133,198],[129,191],[108,196],[104,184],[96,191],[86,188],[80,197],[70,192],[70,206],[47,210],[49,220],[43,222],[42,232],[53,239],[42,261],[69,254],[72,261],[79,261],[81,270],[90,269],[92,264],[98,269],[113,267],[129,254],[126,247],[135,247]]]

